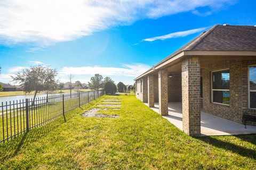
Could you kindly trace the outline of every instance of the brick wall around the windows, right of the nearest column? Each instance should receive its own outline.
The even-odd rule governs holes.
[[[228,120],[242,123],[244,112],[256,115],[255,109],[248,109],[248,66],[256,64],[254,61],[229,60],[210,64],[209,69],[202,69],[203,75],[203,111]],[[211,72],[229,69],[230,105],[213,104],[211,102]],[[248,124],[254,124],[250,123]]]

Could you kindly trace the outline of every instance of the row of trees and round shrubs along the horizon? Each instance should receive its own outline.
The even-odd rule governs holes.
[[[49,66],[39,64],[30,66],[27,69],[23,69],[22,71],[14,74],[12,79],[15,83],[19,83],[20,86],[22,86],[24,92],[30,93],[35,91],[33,99],[34,101],[38,92],[63,89],[64,84],[59,82],[57,75],[57,70]],[[71,94],[71,81],[74,78],[74,75],[70,74],[68,78]],[[123,82],[119,82],[116,85],[114,80],[112,80],[110,77],[105,77],[103,79],[102,75],[100,74],[95,74],[88,83],[90,89],[99,91],[99,89],[104,88],[106,94],[109,95],[114,95],[117,91],[126,92],[135,89],[135,85],[125,86]],[[75,84],[78,92],[79,88],[82,87],[82,83],[80,81],[76,81]]]

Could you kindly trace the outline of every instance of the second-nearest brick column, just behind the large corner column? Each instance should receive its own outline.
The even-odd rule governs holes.
[[[168,72],[167,69],[158,71],[159,113],[168,115]]]

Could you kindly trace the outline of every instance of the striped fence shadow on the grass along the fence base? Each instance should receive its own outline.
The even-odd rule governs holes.
[[[79,109],[82,110],[82,108]],[[66,113],[66,120],[70,120],[70,118],[75,116],[77,113],[78,112],[77,110],[75,111],[75,109],[69,111],[68,113]],[[31,129],[29,132],[20,134],[17,138],[11,141],[0,143],[0,162],[4,162],[5,159],[14,157],[18,154],[21,148],[25,148],[31,142],[45,136],[51,130],[57,128],[63,123],[65,123],[63,116],[59,116],[51,122]]]

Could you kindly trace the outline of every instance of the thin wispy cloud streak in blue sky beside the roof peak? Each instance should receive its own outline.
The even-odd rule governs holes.
[[[192,30],[187,30],[187,31],[172,32],[172,33],[169,33],[169,34],[163,35],[163,36],[145,38],[142,41],[155,41],[155,40],[165,40],[165,39],[170,39],[170,38],[186,37],[193,33],[204,31],[206,28],[207,27],[197,28],[197,29],[192,29]]]

